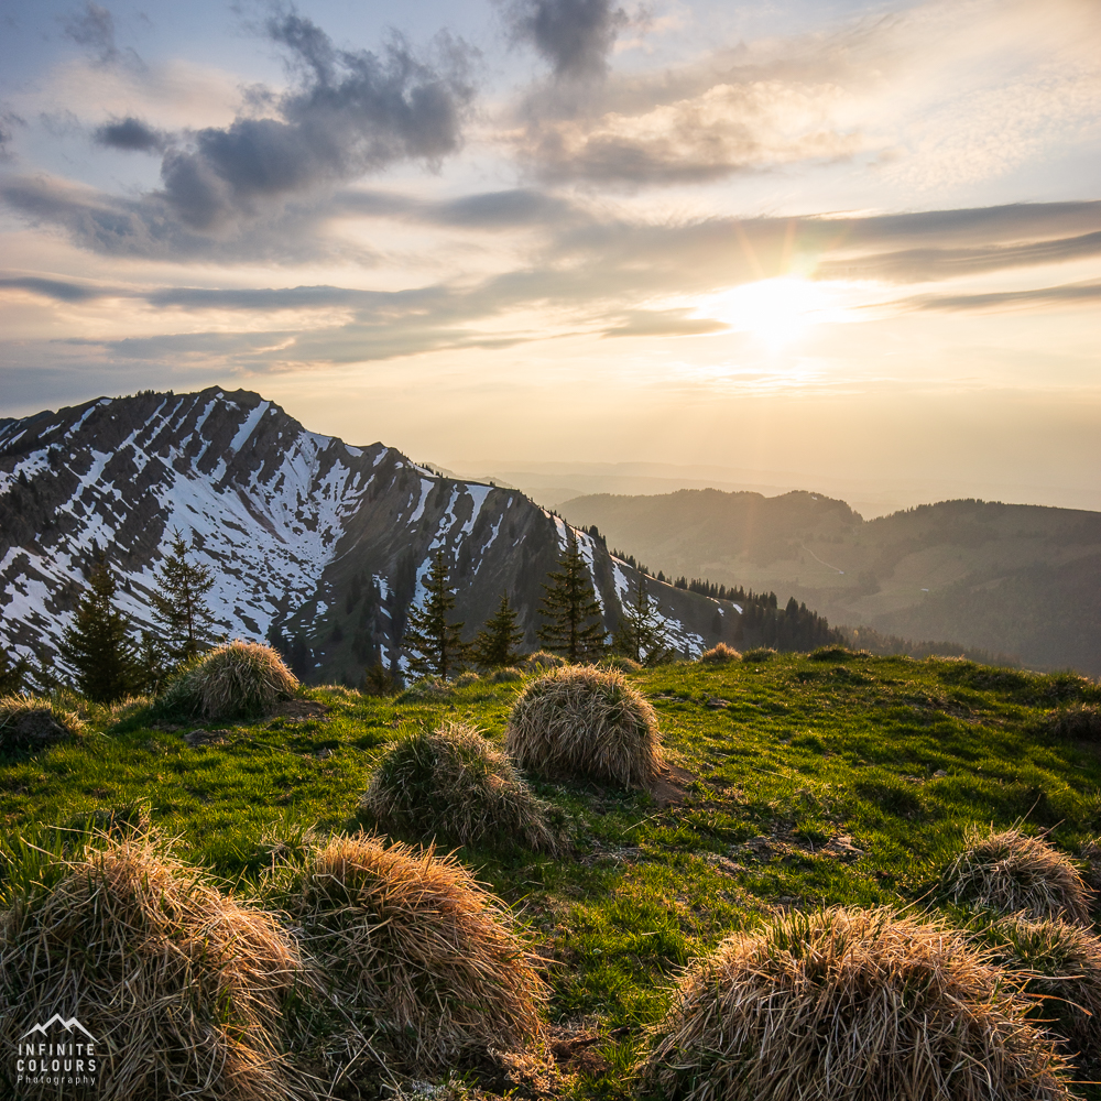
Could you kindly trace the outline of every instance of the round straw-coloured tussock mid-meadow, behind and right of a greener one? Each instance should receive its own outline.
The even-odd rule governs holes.
[[[509,716],[505,748],[521,768],[645,787],[665,767],[657,716],[622,673],[591,665],[531,680]]]

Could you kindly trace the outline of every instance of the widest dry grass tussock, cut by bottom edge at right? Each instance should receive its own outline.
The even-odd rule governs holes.
[[[642,1066],[666,1101],[1056,1101],[1034,999],[941,924],[793,914],[690,968]]]

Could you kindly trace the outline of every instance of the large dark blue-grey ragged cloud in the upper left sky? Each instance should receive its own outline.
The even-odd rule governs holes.
[[[103,56],[113,48],[110,13],[96,4],[70,33]],[[187,144],[170,144],[134,117],[96,131],[100,144],[163,151],[161,189],[118,198],[36,177],[6,181],[0,195],[97,252],[293,262],[333,251],[317,229],[334,185],[402,162],[435,166],[461,145],[475,91],[462,42],[438,35],[428,58],[401,36],[378,54],[338,50],[293,12],[272,18],[265,33],[297,78],[274,97],[277,117],[239,116]]]

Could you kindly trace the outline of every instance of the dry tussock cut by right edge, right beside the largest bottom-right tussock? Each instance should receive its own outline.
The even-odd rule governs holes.
[[[1044,999],[1036,1016],[1054,1017],[1054,1031],[1072,1051],[1101,1057],[1101,939],[1080,925],[1020,914],[993,923],[983,939],[995,962]]]

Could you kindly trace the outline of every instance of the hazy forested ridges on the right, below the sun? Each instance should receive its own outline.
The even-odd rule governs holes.
[[[719,490],[581,497],[562,511],[668,574],[789,591],[831,623],[1101,675],[1101,513],[966,500],[864,521],[821,494]]]

